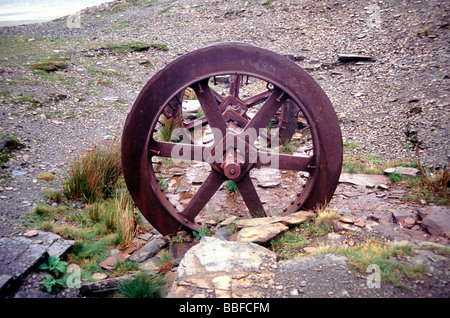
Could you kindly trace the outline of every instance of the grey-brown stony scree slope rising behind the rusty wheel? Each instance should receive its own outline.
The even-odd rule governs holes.
[[[14,135],[25,145],[1,168],[1,236],[27,228],[27,214],[42,200],[42,189],[57,188],[77,155],[95,142],[120,136],[138,93],[158,70],[222,41],[275,51],[308,70],[332,101],[344,141],[355,146],[347,149],[350,153],[376,154],[384,161],[414,161],[418,154],[427,167],[442,168],[450,136],[449,13],[448,3],[435,1],[142,0],[1,28],[0,135]],[[120,49],[129,41],[152,45],[144,51]],[[348,62],[349,54],[367,58]],[[65,65],[36,72],[37,64],[51,59]],[[43,172],[54,175],[52,183],[40,180]],[[416,216],[428,208],[401,200],[380,205],[377,200],[392,195],[345,187],[338,188],[332,204],[357,220],[367,222],[371,216],[387,224],[394,210]],[[362,209],[366,202],[371,208]],[[406,239],[423,239],[415,225],[410,224]],[[437,241],[446,243],[441,236]],[[448,274],[433,275],[444,287],[432,296],[448,297]],[[298,284],[264,295],[281,297],[286,290],[285,296],[301,295],[313,286],[304,279]],[[425,295],[415,290],[409,296]]]

